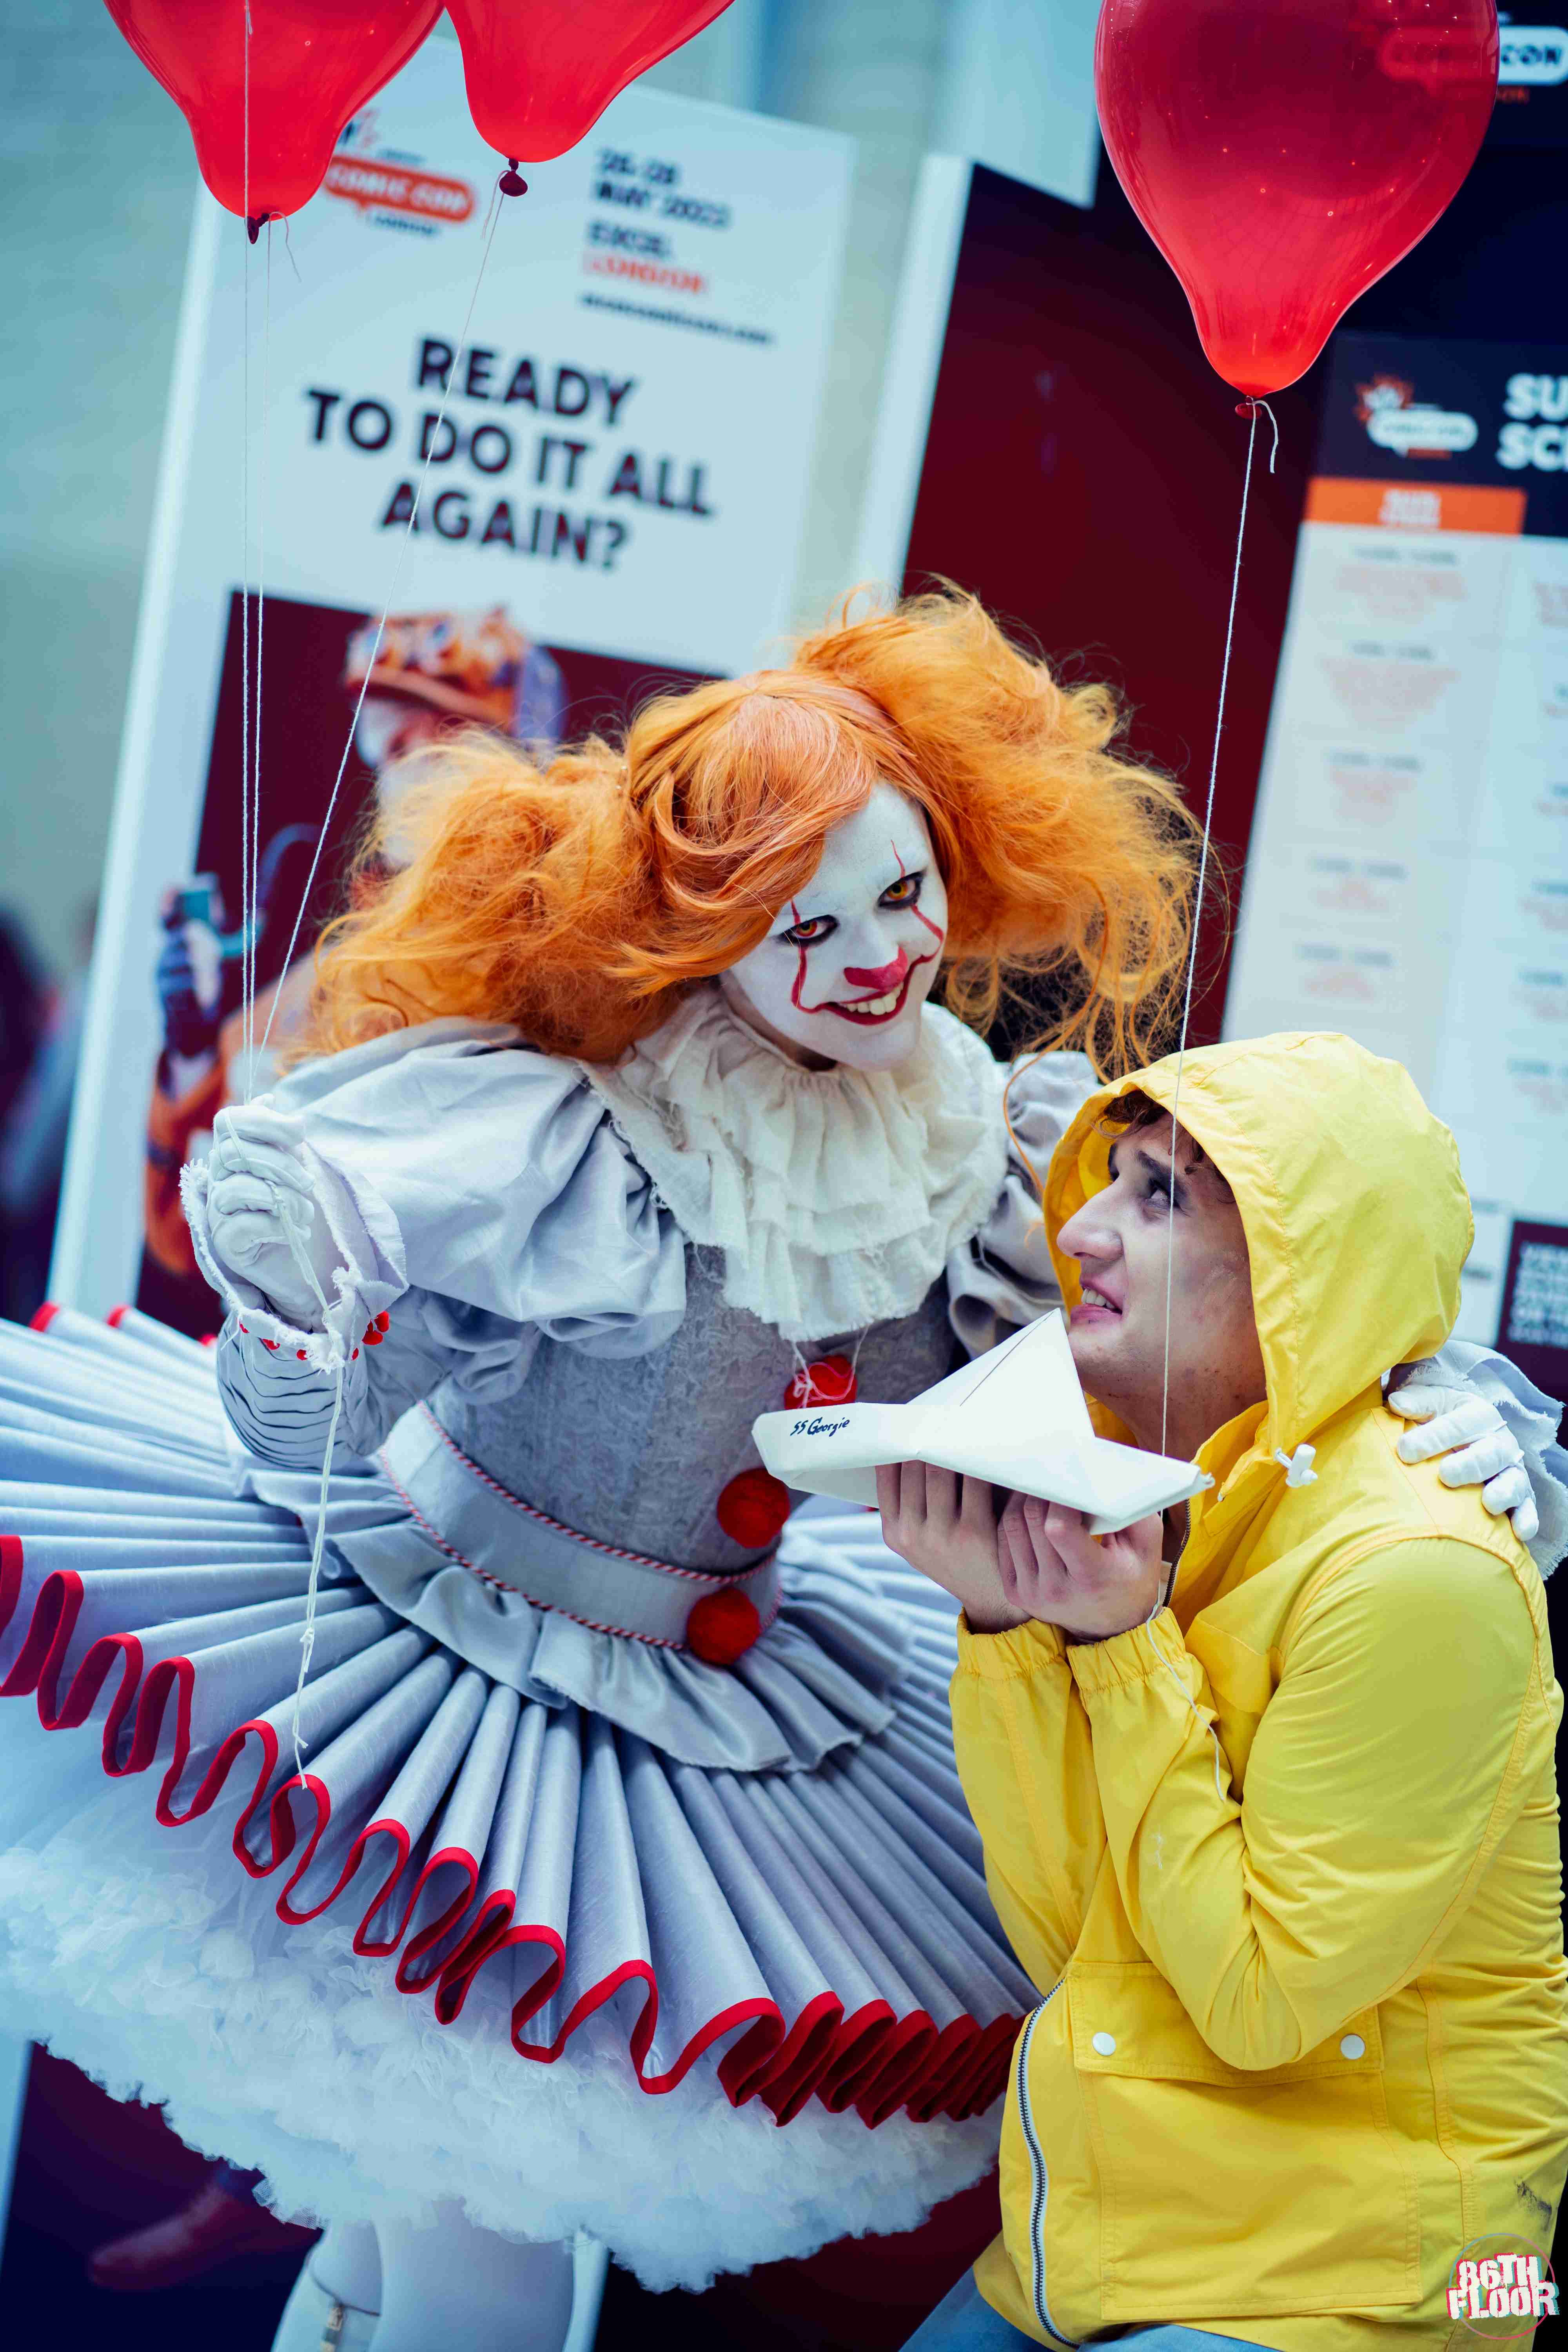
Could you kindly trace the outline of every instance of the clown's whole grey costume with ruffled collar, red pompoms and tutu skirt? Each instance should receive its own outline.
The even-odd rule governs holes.
[[[16,2023],[284,2211],[461,2197],[649,2284],[985,2171],[1034,1994],[950,1604],[865,1512],[780,1526],[750,1425],[1056,1301],[1001,1082],[933,1007],[891,1075],[802,1070],[717,988],[614,1070],[437,1021],[270,1096],[348,1265],[327,1331],[216,1265],[200,1167],[216,1350],[5,1329],[0,1689],[59,1733],[0,1708]],[[1088,1084],[1013,1084],[1034,1164]]]

